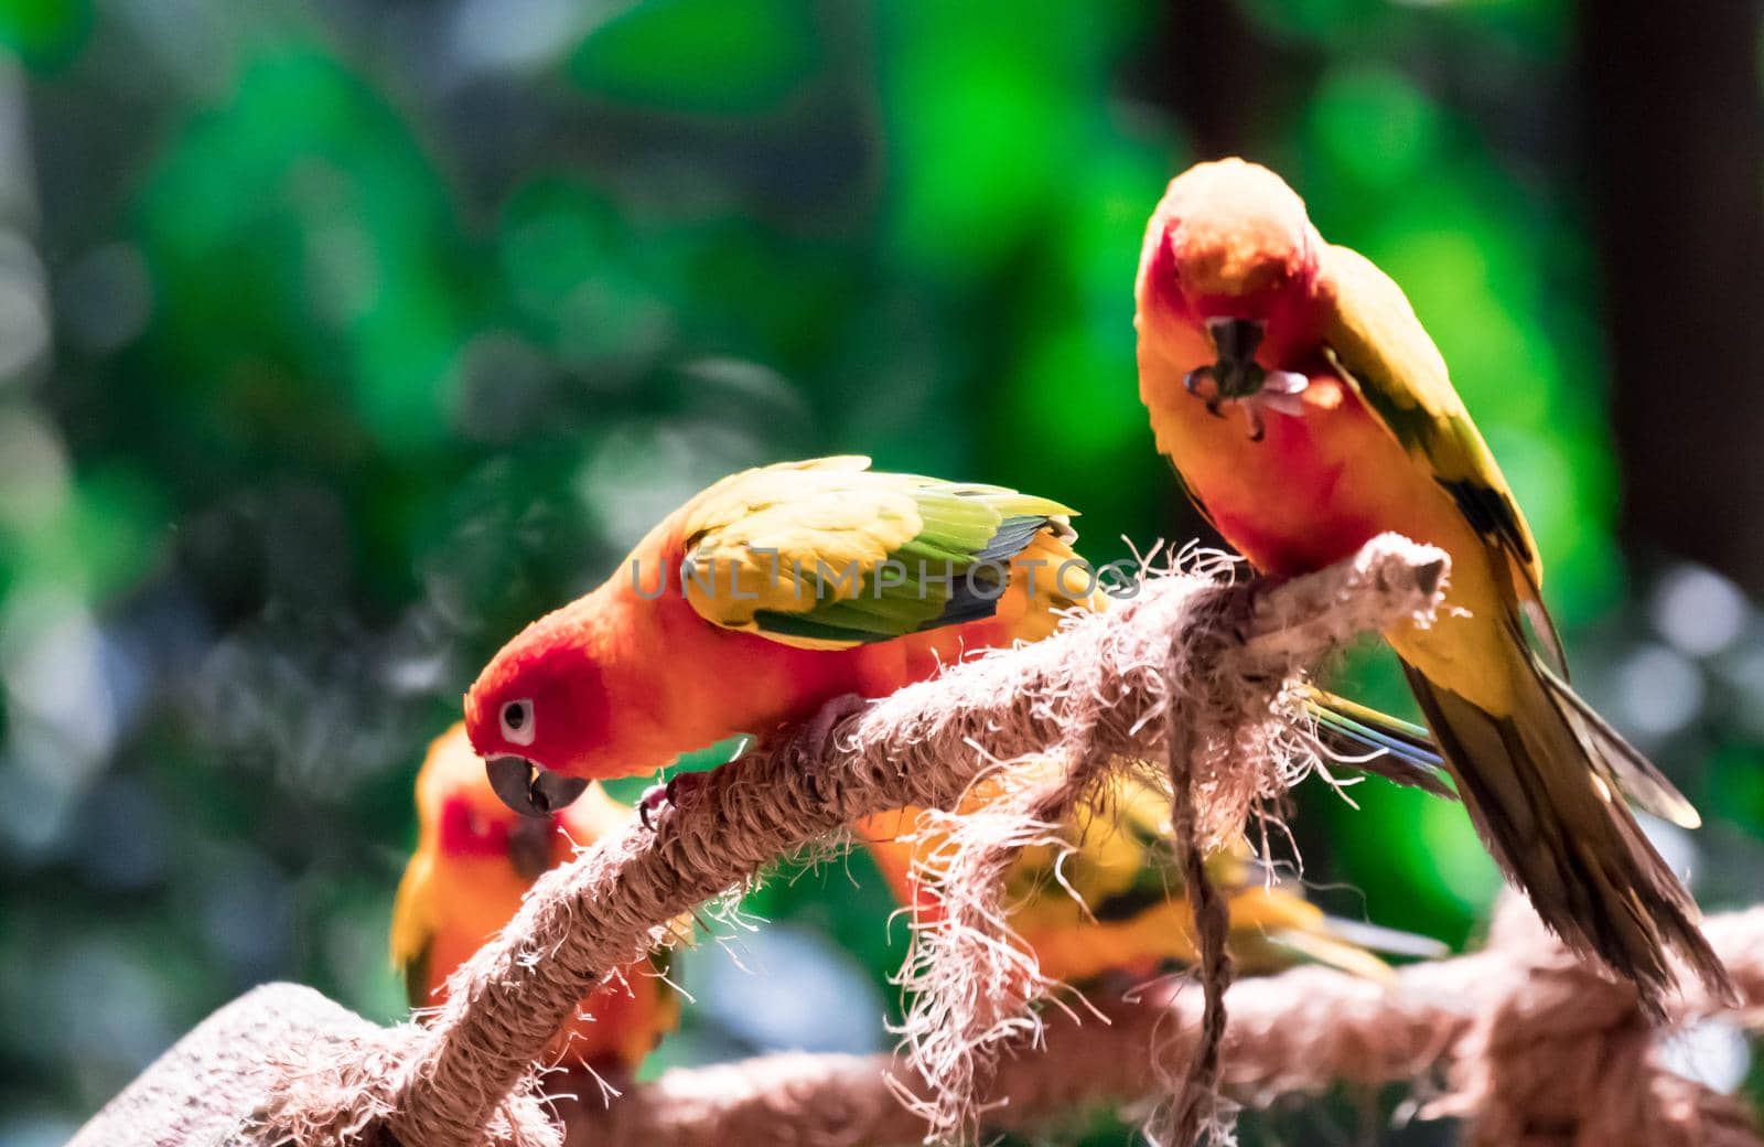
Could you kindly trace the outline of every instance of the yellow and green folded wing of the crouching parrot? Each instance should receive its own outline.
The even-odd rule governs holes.
[[[993,616],[1011,561],[1032,547],[1058,591],[1057,566],[1076,558],[1073,510],[868,464],[750,469],[683,506],[681,586],[699,616],[804,648],[889,641]]]

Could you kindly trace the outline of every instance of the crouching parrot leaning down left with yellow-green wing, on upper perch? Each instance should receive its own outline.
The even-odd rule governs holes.
[[[1088,605],[1071,514],[863,457],[723,478],[503,646],[466,693],[471,745],[505,801],[542,812],[730,736],[813,716],[824,738],[840,706]]]

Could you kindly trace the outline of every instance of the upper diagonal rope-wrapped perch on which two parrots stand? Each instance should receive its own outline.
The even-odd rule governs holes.
[[[1282,584],[1154,577],[1108,614],[878,701],[840,725],[838,748],[811,769],[787,752],[744,755],[711,773],[656,833],[633,822],[543,877],[501,937],[457,972],[432,1027],[388,1032],[365,1059],[344,1048],[298,1064],[268,1105],[266,1128],[318,1143],[383,1119],[422,1147],[556,1142],[531,1099],[533,1061],[603,969],[639,958],[679,914],[859,817],[947,808],[995,761],[1161,759],[1170,708],[1205,701],[1166,676],[1166,665],[1192,665],[1184,649],[1205,649],[1210,678],[1277,685],[1365,632],[1425,618],[1445,572],[1438,549],[1385,535]]]

